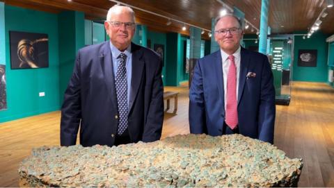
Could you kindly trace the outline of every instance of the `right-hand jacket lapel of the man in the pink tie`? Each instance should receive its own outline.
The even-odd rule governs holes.
[[[239,87],[238,87],[238,105],[242,94],[244,93],[244,87],[246,83],[246,75],[249,65],[249,57],[247,51],[241,47],[241,60],[240,60],[240,73],[239,73]]]

